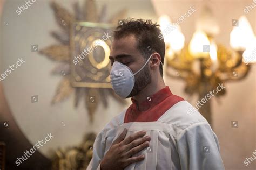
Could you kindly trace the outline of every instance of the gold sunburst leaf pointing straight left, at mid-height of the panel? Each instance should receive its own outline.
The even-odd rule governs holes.
[[[39,51],[55,61],[69,61],[70,47],[68,45],[52,45]]]

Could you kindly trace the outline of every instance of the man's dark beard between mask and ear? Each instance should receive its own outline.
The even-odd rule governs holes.
[[[146,65],[140,71],[140,73],[135,75],[134,79],[135,79],[134,87],[131,93],[126,98],[136,96],[142,89],[144,89],[148,84],[151,83],[149,65]]]

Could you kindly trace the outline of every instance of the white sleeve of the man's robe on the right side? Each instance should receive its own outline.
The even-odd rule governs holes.
[[[196,123],[181,131],[177,148],[182,170],[225,169],[218,138],[208,123]]]

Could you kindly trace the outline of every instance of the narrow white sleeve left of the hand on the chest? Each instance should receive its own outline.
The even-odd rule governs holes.
[[[96,137],[93,144],[93,154],[87,170],[100,170],[100,161],[102,161],[105,152],[104,131],[102,130]]]

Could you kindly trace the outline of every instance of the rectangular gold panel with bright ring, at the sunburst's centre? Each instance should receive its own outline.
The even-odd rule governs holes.
[[[112,88],[110,47],[112,24],[77,22],[71,28],[71,84],[74,87]]]

